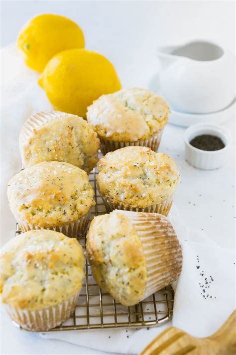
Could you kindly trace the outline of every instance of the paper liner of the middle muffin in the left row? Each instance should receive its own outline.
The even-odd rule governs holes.
[[[54,226],[54,227],[48,227],[48,226],[38,227],[36,224],[27,223],[26,221],[23,221],[20,218],[17,218],[17,222],[22,232],[28,232],[33,229],[48,229],[56,232],[61,232],[65,234],[67,237],[78,239],[84,237],[84,234],[86,233],[87,226],[89,223],[90,215],[91,215],[91,208],[86,213],[86,215],[80,217],[76,221],[70,222],[68,224],[61,224],[59,226]]]

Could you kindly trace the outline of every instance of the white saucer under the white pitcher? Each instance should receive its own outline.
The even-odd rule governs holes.
[[[161,89],[159,85],[159,75],[153,76],[149,89],[152,92],[163,97],[161,94]],[[236,99],[226,108],[221,111],[211,112],[211,113],[185,113],[175,111],[171,108],[171,115],[169,123],[175,124],[177,126],[189,127],[196,123],[215,123],[220,124],[225,122],[235,116],[236,112]]]

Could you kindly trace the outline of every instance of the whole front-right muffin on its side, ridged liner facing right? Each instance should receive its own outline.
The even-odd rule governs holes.
[[[182,269],[175,231],[157,213],[116,210],[95,217],[86,255],[99,286],[124,306],[168,286]]]

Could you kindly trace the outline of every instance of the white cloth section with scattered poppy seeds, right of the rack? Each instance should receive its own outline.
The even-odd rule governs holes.
[[[191,237],[201,238],[194,234],[191,231]],[[195,337],[208,337],[235,309],[235,252],[207,236],[201,243],[181,244],[183,269],[175,291],[173,326]]]

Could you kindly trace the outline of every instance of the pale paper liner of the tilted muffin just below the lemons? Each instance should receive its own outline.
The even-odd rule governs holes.
[[[65,112],[48,110],[48,111],[38,112],[35,115],[29,117],[20,130],[19,150],[20,150],[21,157],[23,157],[23,147],[24,145],[28,144],[28,140],[34,135],[35,129],[39,129],[46,122],[50,121],[53,118],[57,118],[65,115],[67,115],[67,113]]]

